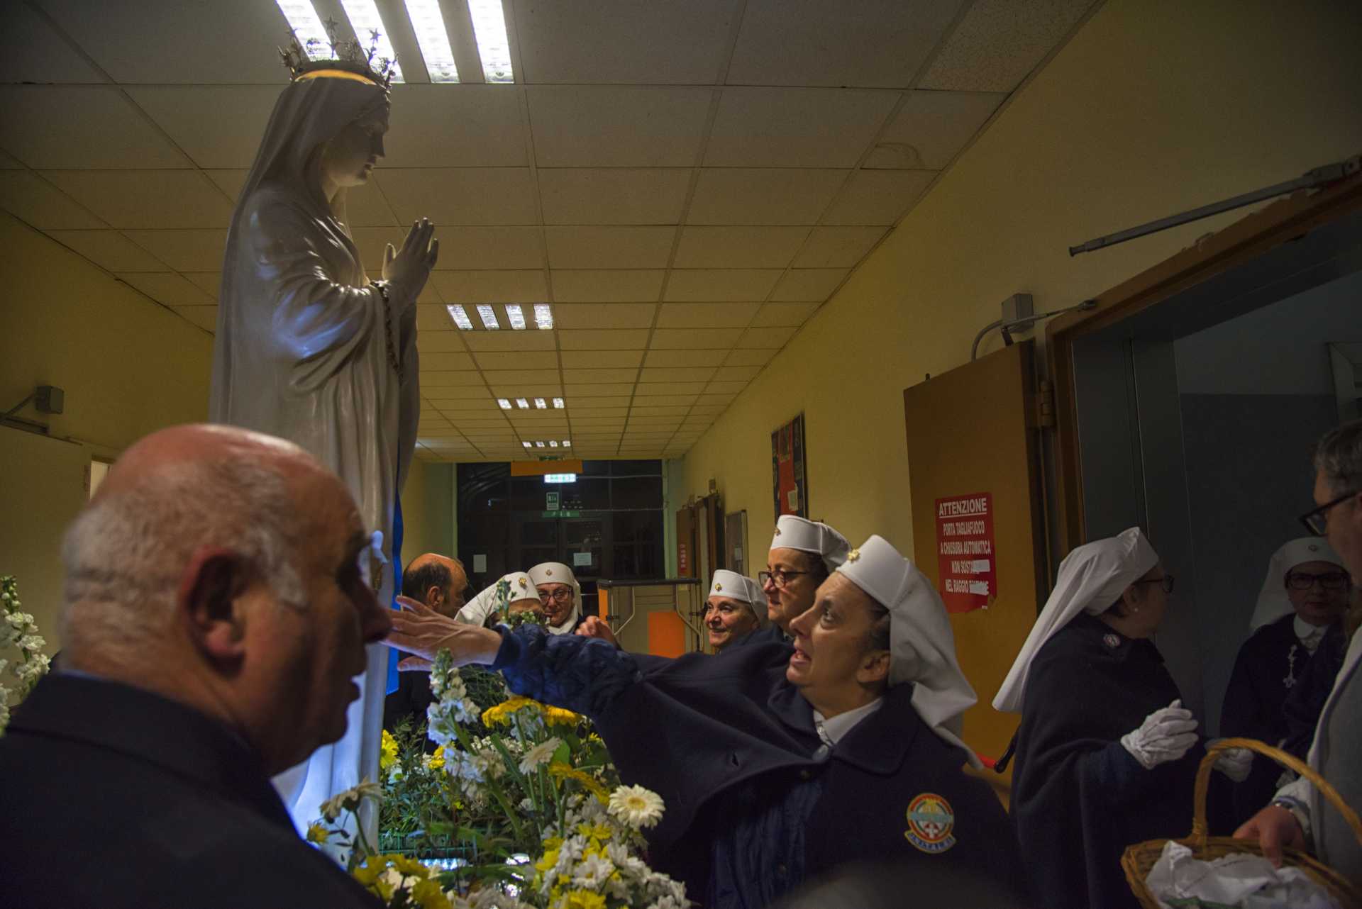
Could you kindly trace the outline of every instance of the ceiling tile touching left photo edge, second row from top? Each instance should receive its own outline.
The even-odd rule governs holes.
[[[113,86],[0,87],[0,147],[34,170],[191,166]]]

